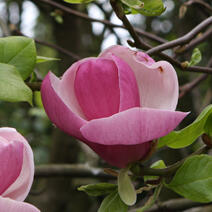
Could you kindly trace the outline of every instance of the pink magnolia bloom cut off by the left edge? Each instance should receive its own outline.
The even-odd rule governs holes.
[[[14,128],[0,128],[0,211],[39,212],[24,199],[34,177],[34,160],[26,139]]]

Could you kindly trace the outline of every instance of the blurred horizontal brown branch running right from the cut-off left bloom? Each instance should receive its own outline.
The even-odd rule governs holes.
[[[114,176],[104,173],[100,168],[76,164],[47,164],[35,168],[35,178],[38,177],[77,177],[77,178],[101,178],[116,179]]]

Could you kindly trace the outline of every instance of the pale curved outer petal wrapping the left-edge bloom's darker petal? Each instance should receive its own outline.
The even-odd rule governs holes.
[[[0,136],[5,138],[9,143],[19,141],[24,144],[21,173],[16,181],[2,194],[4,197],[23,201],[29,193],[34,177],[34,159],[32,149],[26,139],[14,128],[0,128]]]

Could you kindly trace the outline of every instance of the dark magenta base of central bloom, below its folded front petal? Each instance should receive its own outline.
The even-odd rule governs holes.
[[[141,160],[149,152],[151,142],[137,145],[102,145],[93,142],[85,142],[102,159],[109,164],[124,168],[129,163]]]

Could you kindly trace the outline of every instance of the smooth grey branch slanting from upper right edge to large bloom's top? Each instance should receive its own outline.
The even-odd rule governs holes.
[[[186,44],[189,41],[191,41],[205,27],[207,27],[211,24],[212,24],[212,16],[205,19],[203,22],[201,22],[199,25],[197,25],[194,29],[192,29],[189,33],[183,35],[182,37],[180,37],[176,40],[158,45],[158,46],[148,50],[146,53],[149,54],[149,55],[152,55],[152,54],[155,54],[157,52],[161,52],[165,49],[170,49],[170,48],[175,47],[175,46]]]

